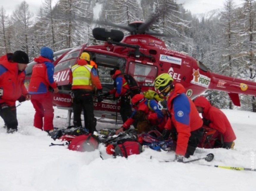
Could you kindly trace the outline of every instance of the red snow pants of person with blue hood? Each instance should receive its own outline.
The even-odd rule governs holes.
[[[50,92],[32,94],[31,102],[35,108],[34,126],[44,131],[53,129],[54,109],[52,104],[53,94]]]

